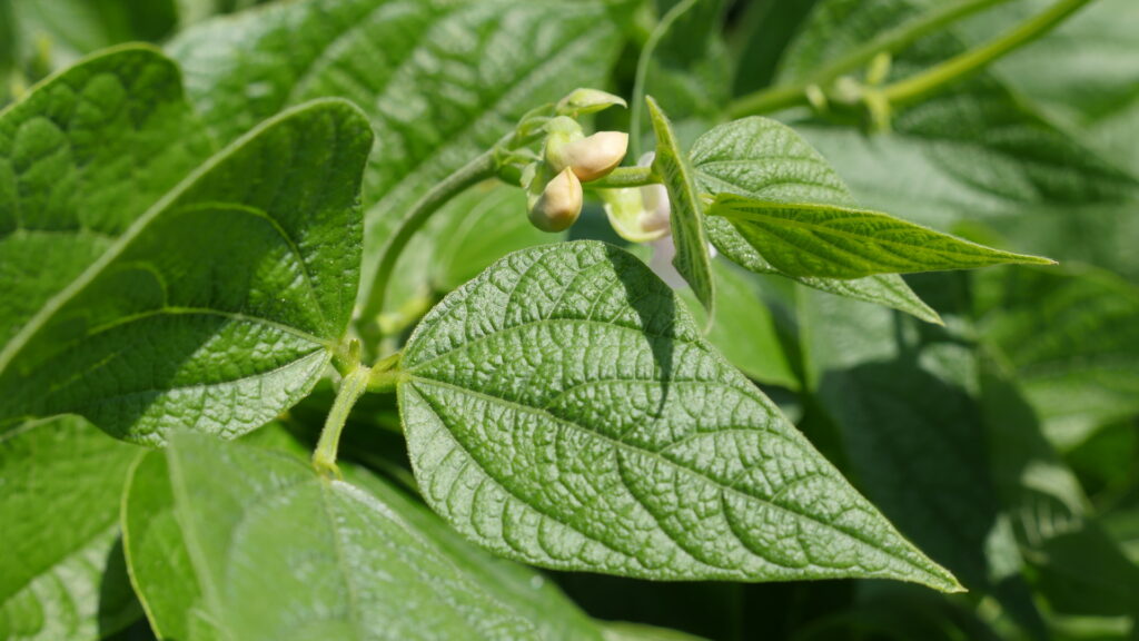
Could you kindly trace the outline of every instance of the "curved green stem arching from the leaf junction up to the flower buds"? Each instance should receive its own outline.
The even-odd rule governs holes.
[[[495,148],[497,146],[487,149],[478,157],[462,165],[416,201],[395,228],[395,233],[387,240],[384,249],[380,250],[379,265],[376,267],[376,275],[371,282],[371,291],[368,294],[368,300],[364,303],[360,319],[360,335],[364,339],[364,344],[369,349],[375,349],[382,336],[379,315],[384,311],[387,287],[400,254],[403,253],[403,250],[408,246],[408,242],[411,241],[416,232],[421,229],[432,214],[446,204],[448,201],[461,194],[467,187],[494,177],[497,164],[494,161]]]

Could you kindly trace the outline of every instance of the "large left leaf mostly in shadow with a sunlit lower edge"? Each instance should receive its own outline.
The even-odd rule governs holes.
[[[370,146],[358,109],[323,100],[199,167],[8,343],[0,417],[71,412],[161,444],[235,437],[296,403],[352,313]]]

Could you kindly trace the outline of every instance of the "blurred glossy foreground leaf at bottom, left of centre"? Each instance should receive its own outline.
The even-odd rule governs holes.
[[[477,553],[456,555],[440,529],[374,477],[329,480],[300,459],[196,435],[144,459],[123,506],[131,577],[163,639],[550,638],[527,618],[541,581],[519,586],[467,558]],[[546,601],[550,619],[575,626],[563,633],[598,638],[555,607],[575,610]]]

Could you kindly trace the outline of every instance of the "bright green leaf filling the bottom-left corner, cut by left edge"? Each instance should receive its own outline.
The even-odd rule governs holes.
[[[142,616],[118,538],[140,453],[76,416],[0,435],[0,639],[93,641]]]

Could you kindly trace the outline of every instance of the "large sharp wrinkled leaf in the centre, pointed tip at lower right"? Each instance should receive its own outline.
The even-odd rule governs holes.
[[[446,297],[398,388],[427,503],[544,567],[957,590],[680,307],[634,257],[588,241],[516,252]]]

